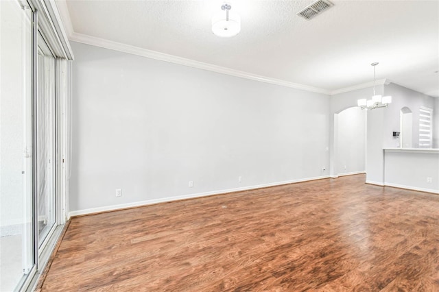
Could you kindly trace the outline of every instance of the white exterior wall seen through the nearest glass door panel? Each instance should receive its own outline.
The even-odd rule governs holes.
[[[0,9],[0,227],[23,223],[23,39],[19,3]],[[0,230],[1,233],[1,230]]]

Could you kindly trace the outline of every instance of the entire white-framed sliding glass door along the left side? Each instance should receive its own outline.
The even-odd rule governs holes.
[[[53,1],[0,0],[0,291],[35,287],[67,212],[69,60]]]

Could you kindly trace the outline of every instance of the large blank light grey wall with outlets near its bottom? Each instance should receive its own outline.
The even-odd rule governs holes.
[[[70,210],[329,174],[327,95],[71,45]]]

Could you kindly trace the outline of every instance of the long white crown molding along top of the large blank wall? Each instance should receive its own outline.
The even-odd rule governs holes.
[[[329,95],[331,93],[331,91],[327,90],[327,89],[317,88],[317,87],[313,87],[313,86],[307,86],[307,85],[303,85],[303,84],[297,84],[297,83],[293,83],[293,82],[287,82],[284,80],[278,80],[278,79],[265,77],[265,76],[261,76],[261,75],[256,75],[256,74],[248,73],[248,72],[244,72],[244,71],[237,71],[235,69],[230,69],[230,68],[217,66],[217,65],[213,65],[213,64],[208,64],[208,63],[204,63],[204,62],[198,62],[195,60],[190,60],[190,59],[181,58],[178,56],[169,55],[167,53],[161,53],[158,51],[151,51],[151,50],[143,49],[140,47],[126,45],[126,44],[123,44],[121,42],[113,42],[112,40],[105,40],[103,38],[96,38],[94,36],[87,36],[85,34],[78,34],[76,32],[73,32],[70,35],[69,40],[71,40],[73,42],[81,42],[81,43],[86,44],[86,45],[93,45],[96,47],[102,47],[104,49],[112,49],[114,51],[121,51],[123,53],[130,53],[132,55],[151,58],[154,60],[161,60],[164,62],[180,64],[183,66],[189,66],[189,67],[193,67],[196,69],[213,71],[216,73],[222,73],[222,74],[231,75],[231,76],[235,76],[235,77],[246,78],[249,80],[255,80],[255,81],[259,81],[259,82],[265,82],[265,83],[275,84],[275,85],[279,85],[279,86],[285,86],[285,87],[289,87],[289,88],[296,88],[296,89],[300,89],[300,90],[306,90],[306,91],[310,91],[313,93],[322,93],[324,95]]]

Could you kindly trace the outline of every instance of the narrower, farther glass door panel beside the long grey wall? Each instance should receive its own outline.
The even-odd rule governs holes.
[[[36,98],[36,162],[38,243],[41,247],[56,225],[55,195],[55,58],[38,34]]]

